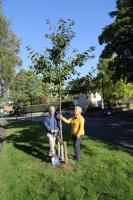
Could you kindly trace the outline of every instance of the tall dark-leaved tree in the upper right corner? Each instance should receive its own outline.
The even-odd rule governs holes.
[[[106,26],[99,36],[100,44],[105,44],[102,58],[111,58],[109,69],[113,69],[114,80],[133,82],[133,2],[117,0],[117,10],[109,13],[115,20]]]

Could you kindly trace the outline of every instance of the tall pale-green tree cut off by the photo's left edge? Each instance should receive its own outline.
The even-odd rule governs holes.
[[[15,66],[21,64],[17,56],[20,41],[10,28],[10,23],[2,12],[0,1],[0,88],[7,90],[14,78]],[[3,91],[1,91],[3,93]]]

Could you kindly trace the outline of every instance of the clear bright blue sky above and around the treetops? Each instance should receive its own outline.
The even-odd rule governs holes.
[[[72,48],[84,52],[95,46],[93,60],[89,60],[82,68],[77,68],[81,76],[86,75],[91,67],[96,67],[103,49],[98,43],[98,36],[103,28],[113,19],[109,12],[115,10],[115,0],[3,0],[3,12],[11,22],[11,29],[21,40],[20,57],[22,67],[31,64],[26,46],[42,52],[49,43],[44,38],[48,32],[45,24],[50,19],[56,25],[60,18],[75,21],[75,38]]]

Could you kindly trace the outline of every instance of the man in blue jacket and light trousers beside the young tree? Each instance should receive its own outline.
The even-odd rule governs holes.
[[[49,114],[43,120],[44,126],[46,128],[47,137],[49,139],[50,145],[50,156],[55,156],[55,141],[59,133],[58,119],[55,115],[55,107],[49,107]]]

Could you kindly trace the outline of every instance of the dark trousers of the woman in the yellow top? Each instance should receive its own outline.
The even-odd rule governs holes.
[[[74,142],[75,158],[77,162],[80,160],[80,143],[83,140],[83,135],[77,138],[77,136],[72,136]]]

